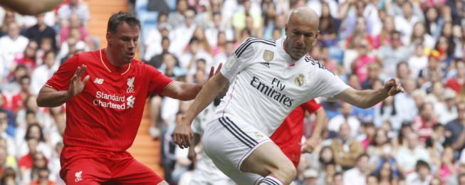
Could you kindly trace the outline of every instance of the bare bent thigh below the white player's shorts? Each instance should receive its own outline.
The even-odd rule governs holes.
[[[292,165],[291,160],[273,142],[266,142],[244,160],[241,171],[268,176],[271,169]]]

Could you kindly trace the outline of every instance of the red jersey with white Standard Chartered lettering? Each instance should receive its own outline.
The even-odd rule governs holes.
[[[90,80],[82,93],[66,102],[65,147],[124,152],[134,142],[147,96],[162,93],[172,80],[139,60],[116,68],[102,49],[68,59],[46,85],[68,90],[83,64],[87,65],[83,78],[90,75]]]

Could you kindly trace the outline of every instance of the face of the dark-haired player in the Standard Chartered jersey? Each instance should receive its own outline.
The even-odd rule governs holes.
[[[139,39],[139,26],[130,26],[122,22],[117,28],[116,33],[108,33],[108,46],[113,48],[113,51],[118,51],[115,56],[115,63],[127,64],[132,61],[137,48],[137,40]]]

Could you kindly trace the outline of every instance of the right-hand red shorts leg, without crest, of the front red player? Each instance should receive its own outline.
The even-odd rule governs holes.
[[[135,159],[125,159],[116,165],[112,177],[120,184],[159,184],[163,181],[155,171]]]

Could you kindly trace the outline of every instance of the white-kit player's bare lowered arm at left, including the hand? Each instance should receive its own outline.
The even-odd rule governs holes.
[[[216,95],[218,95],[228,83],[229,80],[226,77],[221,73],[217,73],[204,85],[204,88],[200,90],[182,121],[177,125],[176,130],[174,130],[174,142],[178,144],[179,147],[187,148],[191,145],[192,120],[213,101]]]

